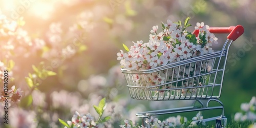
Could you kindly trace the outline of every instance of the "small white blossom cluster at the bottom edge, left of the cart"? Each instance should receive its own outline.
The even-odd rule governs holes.
[[[86,115],[80,115],[77,111],[75,112],[74,116],[72,117],[71,121],[67,121],[70,126],[76,127],[104,127],[103,124],[99,123],[96,124],[94,117],[91,116],[90,113]],[[65,126],[66,128],[67,126]]]

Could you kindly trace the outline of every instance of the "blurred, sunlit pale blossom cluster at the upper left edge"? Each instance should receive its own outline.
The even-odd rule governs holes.
[[[29,36],[29,33],[21,28],[25,24],[23,18],[18,20],[9,20],[6,15],[0,12],[0,38],[2,47],[1,56],[8,58],[14,55],[23,55],[29,57],[32,55],[28,52],[28,48],[31,48],[30,52],[36,52],[45,46],[45,42],[42,39]]]

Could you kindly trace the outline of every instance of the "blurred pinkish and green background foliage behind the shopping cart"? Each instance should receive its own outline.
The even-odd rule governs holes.
[[[21,1],[0,1],[2,14],[9,20],[23,17],[26,24],[22,28],[27,31],[32,44],[36,44],[36,41],[33,41],[36,39],[41,39],[44,43],[41,43],[39,48],[37,45],[14,44],[14,54],[6,57],[6,53],[2,52],[1,60],[8,58],[15,62],[13,77],[16,86],[22,88],[25,94],[29,87],[24,77],[33,72],[32,65],[38,66],[44,61],[46,69],[56,72],[56,76],[42,80],[38,90],[45,97],[44,109],[56,113],[64,120],[71,118],[78,108],[70,111],[72,106],[67,109],[60,109],[61,105],[53,107],[54,102],[57,102],[54,99],[58,100],[53,98],[54,94],[61,95],[60,98],[67,97],[66,102],[72,100],[72,96],[79,97],[79,100],[83,99],[82,102],[79,101],[80,105],[88,103],[87,99],[93,99],[93,94],[107,96],[109,100],[119,103],[125,100],[124,109],[130,114],[179,105],[180,103],[169,101],[159,105],[157,102],[132,100],[120,73],[116,53],[123,49],[122,44],[130,47],[133,45],[132,41],[147,41],[153,26],[160,26],[161,22],[165,23],[167,19],[174,22],[180,19],[184,21],[188,16],[191,17],[190,24],[193,26],[197,22],[204,22],[210,27],[242,25],[245,29],[244,34],[234,41],[230,48],[220,99],[225,105],[225,114],[229,121],[231,116],[240,110],[242,102],[248,102],[256,95],[256,59],[253,57],[256,54],[255,1],[25,2],[27,4]],[[190,27],[188,30],[193,31],[194,28]],[[216,49],[221,48],[226,36],[216,35],[219,41],[219,44],[214,46]],[[69,48],[77,40],[81,45]],[[19,53],[20,47],[25,48]],[[37,118],[40,121],[39,117]],[[41,119],[41,123],[44,121]],[[56,120],[52,121],[58,124]]]

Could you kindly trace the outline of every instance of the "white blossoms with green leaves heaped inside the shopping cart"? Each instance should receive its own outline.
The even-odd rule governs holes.
[[[153,72],[154,69],[164,67],[168,64],[214,52],[211,46],[212,43],[217,43],[218,38],[209,32],[209,26],[204,25],[204,23],[197,23],[195,29],[199,30],[199,34],[196,36],[186,31],[186,28],[191,26],[188,24],[188,21],[189,17],[185,20],[183,27],[180,21],[173,23],[171,20],[167,20],[167,24],[162,23],[161,32],[158,32],[158,26],[153,27],[148,42],[143,43],[142,40],[133,42],[134,45],[131,46],[130,49],[123,45],[128,52],[124,53],[120,50],[120,52],[117,53],[117,59],[120,60],[121,67],[127,71],[151,70]],[[127,81],[132,82],[133,86],[152,87],[201,73],[211,72],[212,65],[213,59],[199,60],[194,63],[184,64],[153,73],[134,73],[125,74],[125,76],[126,79],[128,79]],[[203,86],[207,84],[206,78],[207,76],[189,78],[156,89]],[[190,96],[191,94],[195,95],[197,92],[197,89],[182,89],[177,92],[172,91],[162,95],[166,95],[167,97],[170,95]],[[201,95],[203,95],[203,93],[204,92],[201,92]],[[151,92],[149,92],[148,95],[152,95]],[[153,93],[153,95],[158,95],[158,92]]]

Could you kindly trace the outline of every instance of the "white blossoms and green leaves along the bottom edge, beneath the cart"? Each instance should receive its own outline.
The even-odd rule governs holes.
[[[104,111],[106,109],[106,99],[103,98],[100,100],[99,105],[94,105],[94,109],[98,114],[98,119],[96,120],[94,116],[92,116],[90,113],[87,114],[80,114],[79,112],[75,112],[73,115],[71,121],[68,120],[67,122],[58,119],[60,123],[65,125],[65,128],[75,128],[75,127],[111,127],[110,119],[112,116],[102,116],[104,115]],[[145,123],[146,126],[139,125],[139,123],[134,124],[132,120],[126,120],[124,119],[124,124],[120,125],[122,128],[128,128],[128,127],[194,127],[198,124],[206,125],[205,122],[202,122],[203,116],[202,112],[198,112],[195,117],[193,117],[191,120],[188,120],[184,116],[177,115],[177,117],[168,117],[167,119],[161,121],[158,118],[151,117],[150,119],[146,118]]]

